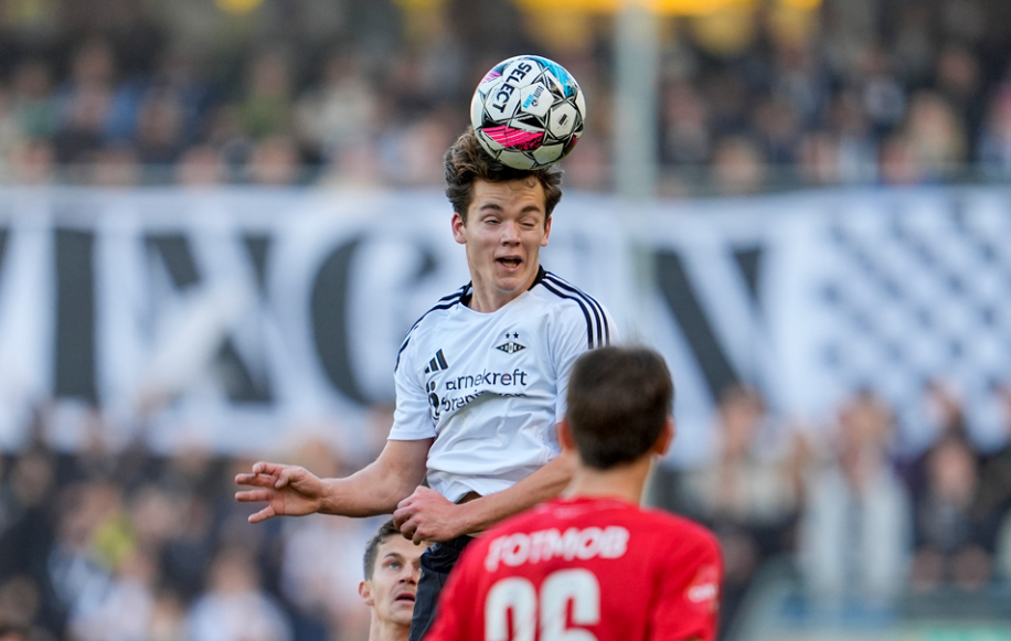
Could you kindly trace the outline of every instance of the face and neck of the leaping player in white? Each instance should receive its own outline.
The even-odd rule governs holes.
[[[533,284],[551,233],[544,200],[535,179],[477,180],[467,222],[454,214],[453,236],[467,246],[477,311],[494,311]]]

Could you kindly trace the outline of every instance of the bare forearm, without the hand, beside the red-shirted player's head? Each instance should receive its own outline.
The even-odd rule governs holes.
[[[503,519],[552,499],[572,481],[575,461],[562,453],[515,485],[460,505],[467,532],[480,532]]]

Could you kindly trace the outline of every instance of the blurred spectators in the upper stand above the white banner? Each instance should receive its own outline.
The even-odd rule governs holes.
[[[478,79],[535,52],[563,62],[588,98],[570,184],[611,189],[614,17],[538,4],[6,4],[0,174],[15,184],[438,184]],[[659,19],[661,194],[1011,174],[1003,3],[755,6]]]

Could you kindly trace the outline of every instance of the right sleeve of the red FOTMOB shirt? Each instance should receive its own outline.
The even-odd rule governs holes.
[[[661,575],[650,641],[714,641],[723,585],[723,559],[716,538],[706,533],[678,551],[683,570]]]

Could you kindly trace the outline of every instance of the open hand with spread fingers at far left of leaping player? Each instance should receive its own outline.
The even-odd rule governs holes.
[[[272,516],[304,516],[318,512],[324,491],[323,482],[305,468],[263,461],[253,466],[252,473],[236,474],[235,483],[253,488],[236,492],[236,501],[267,503],[266,508],[249,515],[249,523]]]

